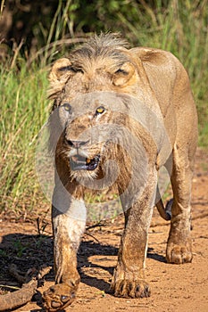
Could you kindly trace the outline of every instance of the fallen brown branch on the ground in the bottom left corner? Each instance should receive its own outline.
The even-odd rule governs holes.
[[[25,283],[22,284],[19,291],[9,292],[0,296],[0,311],[18,308],[28,303],[36,293],[40,279],[49,273],[50,269],[51,267],[43,267],[40,271],[36,270],[35,273],[34,269],[32,269],[29,270],[29,273],[25,275],[25,277],[23,277],[18,272],[17,267],[12,265],[10,267],[10,273],[15,276],[19,282],[22,283],[22,281],[24,281]],[[33,272],[32,275],[30,275],[31,272]]]

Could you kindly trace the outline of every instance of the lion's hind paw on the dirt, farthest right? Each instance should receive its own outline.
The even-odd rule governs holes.
[[[188,245],[177,245],[170,243],[166,250],[166,259],[168,263],[182,264],[191,262],[193,256],[191,247]]]

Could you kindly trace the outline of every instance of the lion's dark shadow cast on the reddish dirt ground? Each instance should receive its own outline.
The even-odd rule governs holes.
[[[100,291],[110,293],[110,282],[106,282],[100,275],[87,275],[82,268],[90,267],[91,271],[102,269],[112,275],[114,268],[112,265],[104,266],[102,263],[95,264],[89,258],[91,256],[99,256],[105,259],[108,256],[116,256],[117,253],[118,248],[112,245],[94,241],[81,242],[78,254],[78,269],[82,283],[96,287]],[[15,285],[16,283],[17,286],[20,286],[15,278],[9,274],[9,266],[15,264],[20,271],[25,273],[32,267],[36,267],[37,269],[42,266],[53,267],[53,240],[48,235],[6,234],[0,243],[0,256],[0,283],[4,285]],[[165,262],[164,257],[155,253],[152,248],[148,250],[147,257]],[[45,276],[45,279],[46,281],[54,281],[53,269]],[[33,300],[42,308],[40,292],[37,291]],[[41,310],[38,309],[36,311]]]

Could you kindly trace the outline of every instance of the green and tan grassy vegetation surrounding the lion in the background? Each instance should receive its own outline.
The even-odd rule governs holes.
[[[41,48],[28,56],[17,46],[0,63],[0,209],[25,213],[46,202],[34,168],[37,134],[49,111],[46,65],[67,53],[76,38],[93,31],[119,30],[132,45],[162,48],[179,57],[196,98],[199,144],[207,147],[207,4],[208,0],[59,1],[50,28],[41,23],[34,28],[37,38],[38,31],[42,34]]]

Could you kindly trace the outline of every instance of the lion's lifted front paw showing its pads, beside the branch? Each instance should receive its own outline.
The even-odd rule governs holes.
[[[44,308],[48,312],[62,310],[71,305],[76,290],[66,283],[57,283],[43,293]]]

